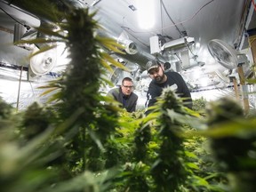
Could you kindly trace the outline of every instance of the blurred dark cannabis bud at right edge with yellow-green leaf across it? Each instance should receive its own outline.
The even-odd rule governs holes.
[[[233,98],[221,98],[207,108],[212,153],[222,172],[227,172],[230,191],[256,189],[255,116]]]

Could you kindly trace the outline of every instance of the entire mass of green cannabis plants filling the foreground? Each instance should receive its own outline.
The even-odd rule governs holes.
[[[192,111],[170,89],[148,116],[127,113],[99,91],[111,65],[126,68],[101,52],[122,46],[95,36],[96,12],[68,1],[13,2],[45,20],[36,29],[47,37],[26,43],[46,44],[43,52],[64,42],[71,61],[41,87],[54,91],[49,105],[15,112],[0,100],[1,191],[254,191],[253,116],[229,100],[212,102],[207,114],[206,101],[195,100]]]

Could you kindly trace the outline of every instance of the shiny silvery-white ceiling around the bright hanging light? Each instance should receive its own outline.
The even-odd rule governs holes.
[[[85,1],[86,2],[86,1]],[[178,39],[187,34],[194,37],[195,54],[199,60],[207,62],[204,54],[209,56],[207,43],[218,38],[228,44],[239,44],[244,25],[243,17],[248,10],[244,10],[246,0],[162,0],[155,1],[156,25],[148,30],[138,26],[137,13],[129,5],[136,7],[134,0],[101,0],[94,5],[99,10],[101,23],[119,36],[124,30],[134,42],[149,48],[149,37],[156,34]],[[235,3],[236,2],[236,3]],[[92,1],[88,1],[88,4]],[[147,4],[145,4],[147,6]],[[245,15],[243,15],[245,13]],[[115,34],[116,33],[116,34]]]

